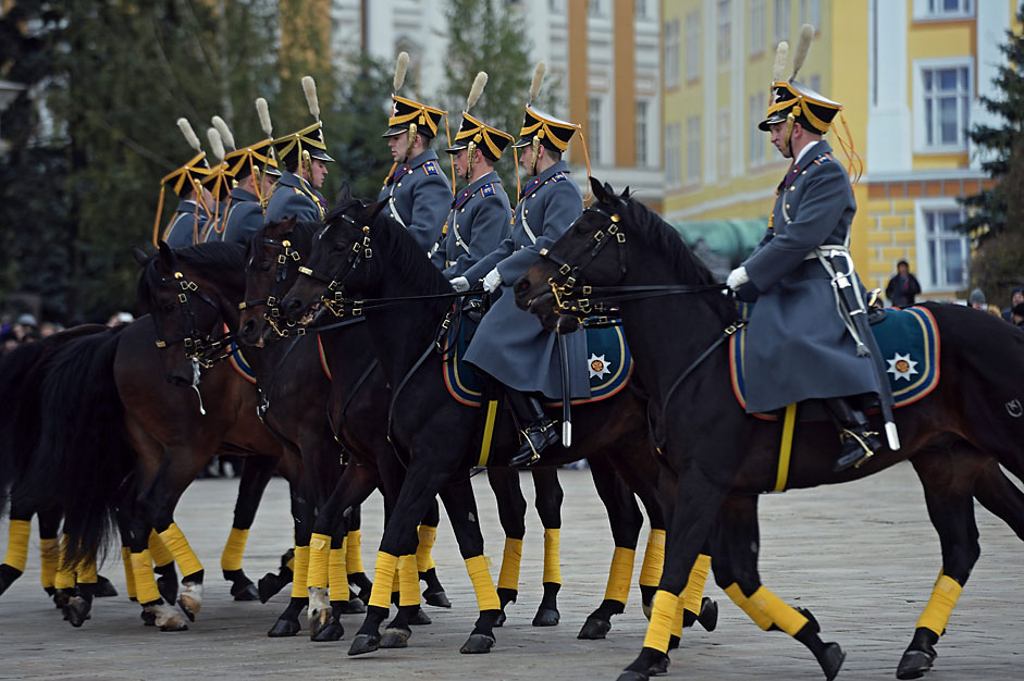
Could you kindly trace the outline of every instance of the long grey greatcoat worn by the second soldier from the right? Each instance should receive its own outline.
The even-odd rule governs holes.
[[[501,246],[469,268],[462,276],[476,285],[495,267],[504,286],[510,286],[551,248],[583,212],[583,197],[559,161],[526,186],[516,206],[511,235]],[[566,336],[569,351],[569,389],[572,398],[590,397],[587,334]],[[525,393],[562,398],[562,358],[555,334],[544,331],[536,315],[516,307],[505,290],[484,314],[466,351],[466,361],[505,385]]]

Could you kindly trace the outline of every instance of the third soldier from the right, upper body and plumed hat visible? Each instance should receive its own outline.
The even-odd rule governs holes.
[[[486,82],[486,73],[481,71],[477,74],[455,143],[446,149],[452,154],[456,173],[468,184],[452,201],[439,249],[431,256],[431,261],[452,280],[456,290],[469,290],[469,282],[462,273],[496,249],[511,233],[511,207],[494,164],[513,141],[513,136],[469,113]]]

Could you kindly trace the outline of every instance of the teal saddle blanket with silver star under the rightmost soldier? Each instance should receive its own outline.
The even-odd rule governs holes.
[[[871,329],[881,350],[896,407],[915,403],[935,389],[939,383],[939,330],[926,308],[888,309],[885,319]],[[732,392],[743,408],[747,407],[745,343],[747,327],[729,339]]]

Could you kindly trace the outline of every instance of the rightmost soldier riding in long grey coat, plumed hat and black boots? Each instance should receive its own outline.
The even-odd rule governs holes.
[[[741,299],[757,301],[745,344],[747,411],[823,399],[840,432],[841,471],[881,446],[864,411],[888,385],[873,366],[863,286],[850,258],[853,189],[822,139],[842,104],[794,79],[812,37],[804,25],[789,81],[788,46],[779,45],[774,101],[758,127],[793,162],[776,189],[767,234],[727,283]]]

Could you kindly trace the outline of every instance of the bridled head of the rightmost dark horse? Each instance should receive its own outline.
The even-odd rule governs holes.
[[[626,273],[620,212],[629,189],[617,195],[607,183],[593,177],[590,183],[594,203],[513,284],[516,304],[536,314],[548,331],[575,331],[588,315],[588,286],[617,284]],[[570,304],[576,295],[580,299]]]

